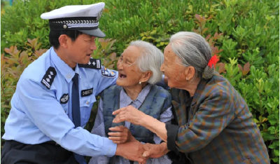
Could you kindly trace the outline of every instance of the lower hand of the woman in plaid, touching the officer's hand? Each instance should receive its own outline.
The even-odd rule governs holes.
[[[160,158],[161,156],[165,156],[168,153],[167,144],[162,142],[161,144],[144,144],[143,149],[145,152],[143,153],[144,158]]]

